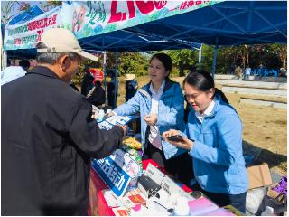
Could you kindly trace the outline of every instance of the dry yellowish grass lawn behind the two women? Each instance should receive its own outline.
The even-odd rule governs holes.
[[[147,76],[136,78],[139,87],[148,82]],[[183,77],[172,78],[182,84]],[[217,86],[221,89],[221,86]],[[119,77],[120,96],[117,105],[125,102],[125,80]],[[246,153],[254,154],[259,161],[282,175],[287,174],[287,111],[268,107],[240,104],[239,94],[226,94],[237,109],[243,122],[243,146]]]

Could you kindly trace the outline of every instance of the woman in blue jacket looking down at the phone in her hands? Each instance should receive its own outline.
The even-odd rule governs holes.
[[[222,100],[206,71],[183,80],[192,109],[185,133],[169,130],[163,137],[182,134],[174,146],[189,150],[195,178],[203,192],[220,206],[246,211],[247,171],[242,151],[242,123],[235,109]]]

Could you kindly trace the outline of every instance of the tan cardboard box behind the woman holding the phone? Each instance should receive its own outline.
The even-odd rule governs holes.
[[[272,184],[269,166],[266,163],[247,167],[247,175],[249,179],[249,189]]]

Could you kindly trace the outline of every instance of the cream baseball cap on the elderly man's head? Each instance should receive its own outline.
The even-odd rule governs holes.
[[[47,48],[37,49],[37,52],[67,52],[78,53],[85,61],[98,61],[98,57],[82,51],[78,39],[74,34],[63,28],[51,28],[42,34],[42,43]]]

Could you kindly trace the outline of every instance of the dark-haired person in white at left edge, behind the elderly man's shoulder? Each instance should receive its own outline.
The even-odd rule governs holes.
[[[12,80],[23,77],[30,67],[30,62],[27,60],[19,61],[19,66],[8,66],[4,71],[1,71],[1,86],[9,83]]]

